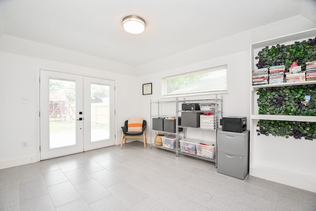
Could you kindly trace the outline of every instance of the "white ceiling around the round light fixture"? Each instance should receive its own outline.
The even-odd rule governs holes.
[[[208,42],[302,15],[316,0],[0,0],[0,35],[137,67]],[[121,20],[138,15],[144,33]]]

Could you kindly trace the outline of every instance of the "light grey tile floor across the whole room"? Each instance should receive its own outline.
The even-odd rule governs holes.
[[[0,211],[316,211],[316,193],[131,142],[0,170]]]

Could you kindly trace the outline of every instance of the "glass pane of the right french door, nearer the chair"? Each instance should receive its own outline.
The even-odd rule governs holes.
[[[91,84],[91,142],[110,138],[110,86]]]

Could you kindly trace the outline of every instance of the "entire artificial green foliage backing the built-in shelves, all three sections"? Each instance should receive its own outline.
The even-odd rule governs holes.
[[[267,46],[258,52],[256,59],[259,59],[258,68],[285,65],[285,72],[288,72],[292,62],[296,61],[305,71],[306,62],[316,61],[316,38],[289,45],[277,44],[271,48]],[[315,84],[259,88],[258,94],[259,114],[316,116]],[[308,102],[304,99],[306,95],[310,96]],[[260,120],[257,127],[258,135],[316,139],[316,123]]]

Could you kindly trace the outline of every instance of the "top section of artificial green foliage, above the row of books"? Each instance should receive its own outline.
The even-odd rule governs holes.
[[[259,59],[258,68],[285,65],[285,72],[288,72],[292,62],[296,61],[304,71],[306,62],[316,60],[316,38],[289,45],[277,44],[271,48],[267,46],[258,52],[256,59]]]

